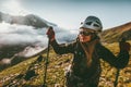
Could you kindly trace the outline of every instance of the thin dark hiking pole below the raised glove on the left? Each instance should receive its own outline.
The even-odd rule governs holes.
[[[45,62],[45,74],[44,74],[44,85],[43,87],[47,87],[46,84],[46,78],[47,78],[47,67],[48,67],[48,58],[49,58],[49,47],[50,47],[50,39],[48,39],[48,47],[47,47],[47,58],[46,58],[46,62]]]

